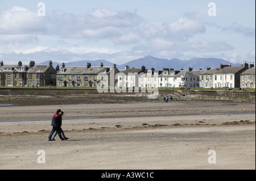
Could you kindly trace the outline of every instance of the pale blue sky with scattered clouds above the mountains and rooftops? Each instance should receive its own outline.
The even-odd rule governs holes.
[[[0,60],[255,63],[254,0],[0,0]]]

